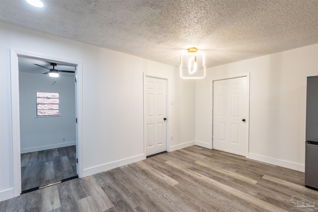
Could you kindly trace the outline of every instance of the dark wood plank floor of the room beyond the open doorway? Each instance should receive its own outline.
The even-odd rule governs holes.
[[[22,191],[76,175],[75,145],[21,154]]]

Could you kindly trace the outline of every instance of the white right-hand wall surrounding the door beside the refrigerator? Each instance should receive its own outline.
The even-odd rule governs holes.
[[[247,72],[248,157],[304,171],[306,80],[318,75],[318,44],[208,69],[196,81],[196,141],[212,145],[212,79]]]

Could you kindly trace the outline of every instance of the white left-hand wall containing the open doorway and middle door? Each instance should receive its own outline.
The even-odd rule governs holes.
[[[13,197],[10,49],[82,62],[84,176],[145,158],[143,72],[168,77],[169,150],[194,143],[195,81],[178,68],[6,23],[0,31],[0,201]]]

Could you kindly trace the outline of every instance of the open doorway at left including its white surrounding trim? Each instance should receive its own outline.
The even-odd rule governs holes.
[[[10,56],[13,183],[14,196],[17,197],[21,193],[82,176],[82,68],[81,62],[78,61],[12,49]],[[27,69],[27,65],[24,63],[26,61],[29,62],[31,71],[19,71]],[[50,63],[61,66],[60,70],[73,67],[73,71],[66,73],[73,74],[73,76],[66,76],[63,73],[64,76],[60,74],[61,78],[49,77],[46,74],[49,70],[45,70],[44,67],[52,69]],[[32,73],[32,70],[39,71],[37,67],[40,70],[42,68],[40,74]],[[59,70],[58,67],[55,69]],[[36,84],[34,79],[37,80],[39,86],[34,85]],[[62,85],[62,81],[65,81],[64,85]],[[67,85],[67,81],[69,81],[69,85]],[[72,83],[70,83],[71,81]],[[69,88],[67,89],[65,86],[69,86]],[[54,91],[53,88],[57,90]],[[27,94],[25,90],[28,90],[29,93]],[[42,94],[47,94],[44,97],[48,97],[46,99],[48,102],[39,102],[39,99],[43,97]],[[73,97],[70,98],[72,95]],[[50,102],[52,99],[49,97],[55,98],[54,101]],[[69,102],[67,103],[67,101]],[[25,104],[25,102],[29,103]],[[54,102],[55,104],[53,104]],[[69,105],[68,109],[65,107],[66,104]],[[72,109],[70,109],[70,105],[72,105]],[[32,112],[28,114],[27,111]],[[73,130],[66,127],[62,130],[59,129],[58,125],[61,124],[59,121],[62,117],[65,119],[64,122],[72,126]],[[59,134],[59,130],[64,131]],[[68,133],[68,131],[72,132]],[[62,137],[56,139],[56,135]],[[58,140],[58,142],[52,143],[53,140]],[[24,143],[25,141],[27,142]],[[27,167],[28,165],[29,167]],[[62,169],[59,169],[60,167]],[[34,187],[34,185],[36,186]]]

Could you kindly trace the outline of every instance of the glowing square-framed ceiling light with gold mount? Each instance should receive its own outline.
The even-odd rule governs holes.
[[[197,48],[189,48],[188,53],[180,55],[180,76],[183,79],[202,79],[205,77],[204,54]]]

